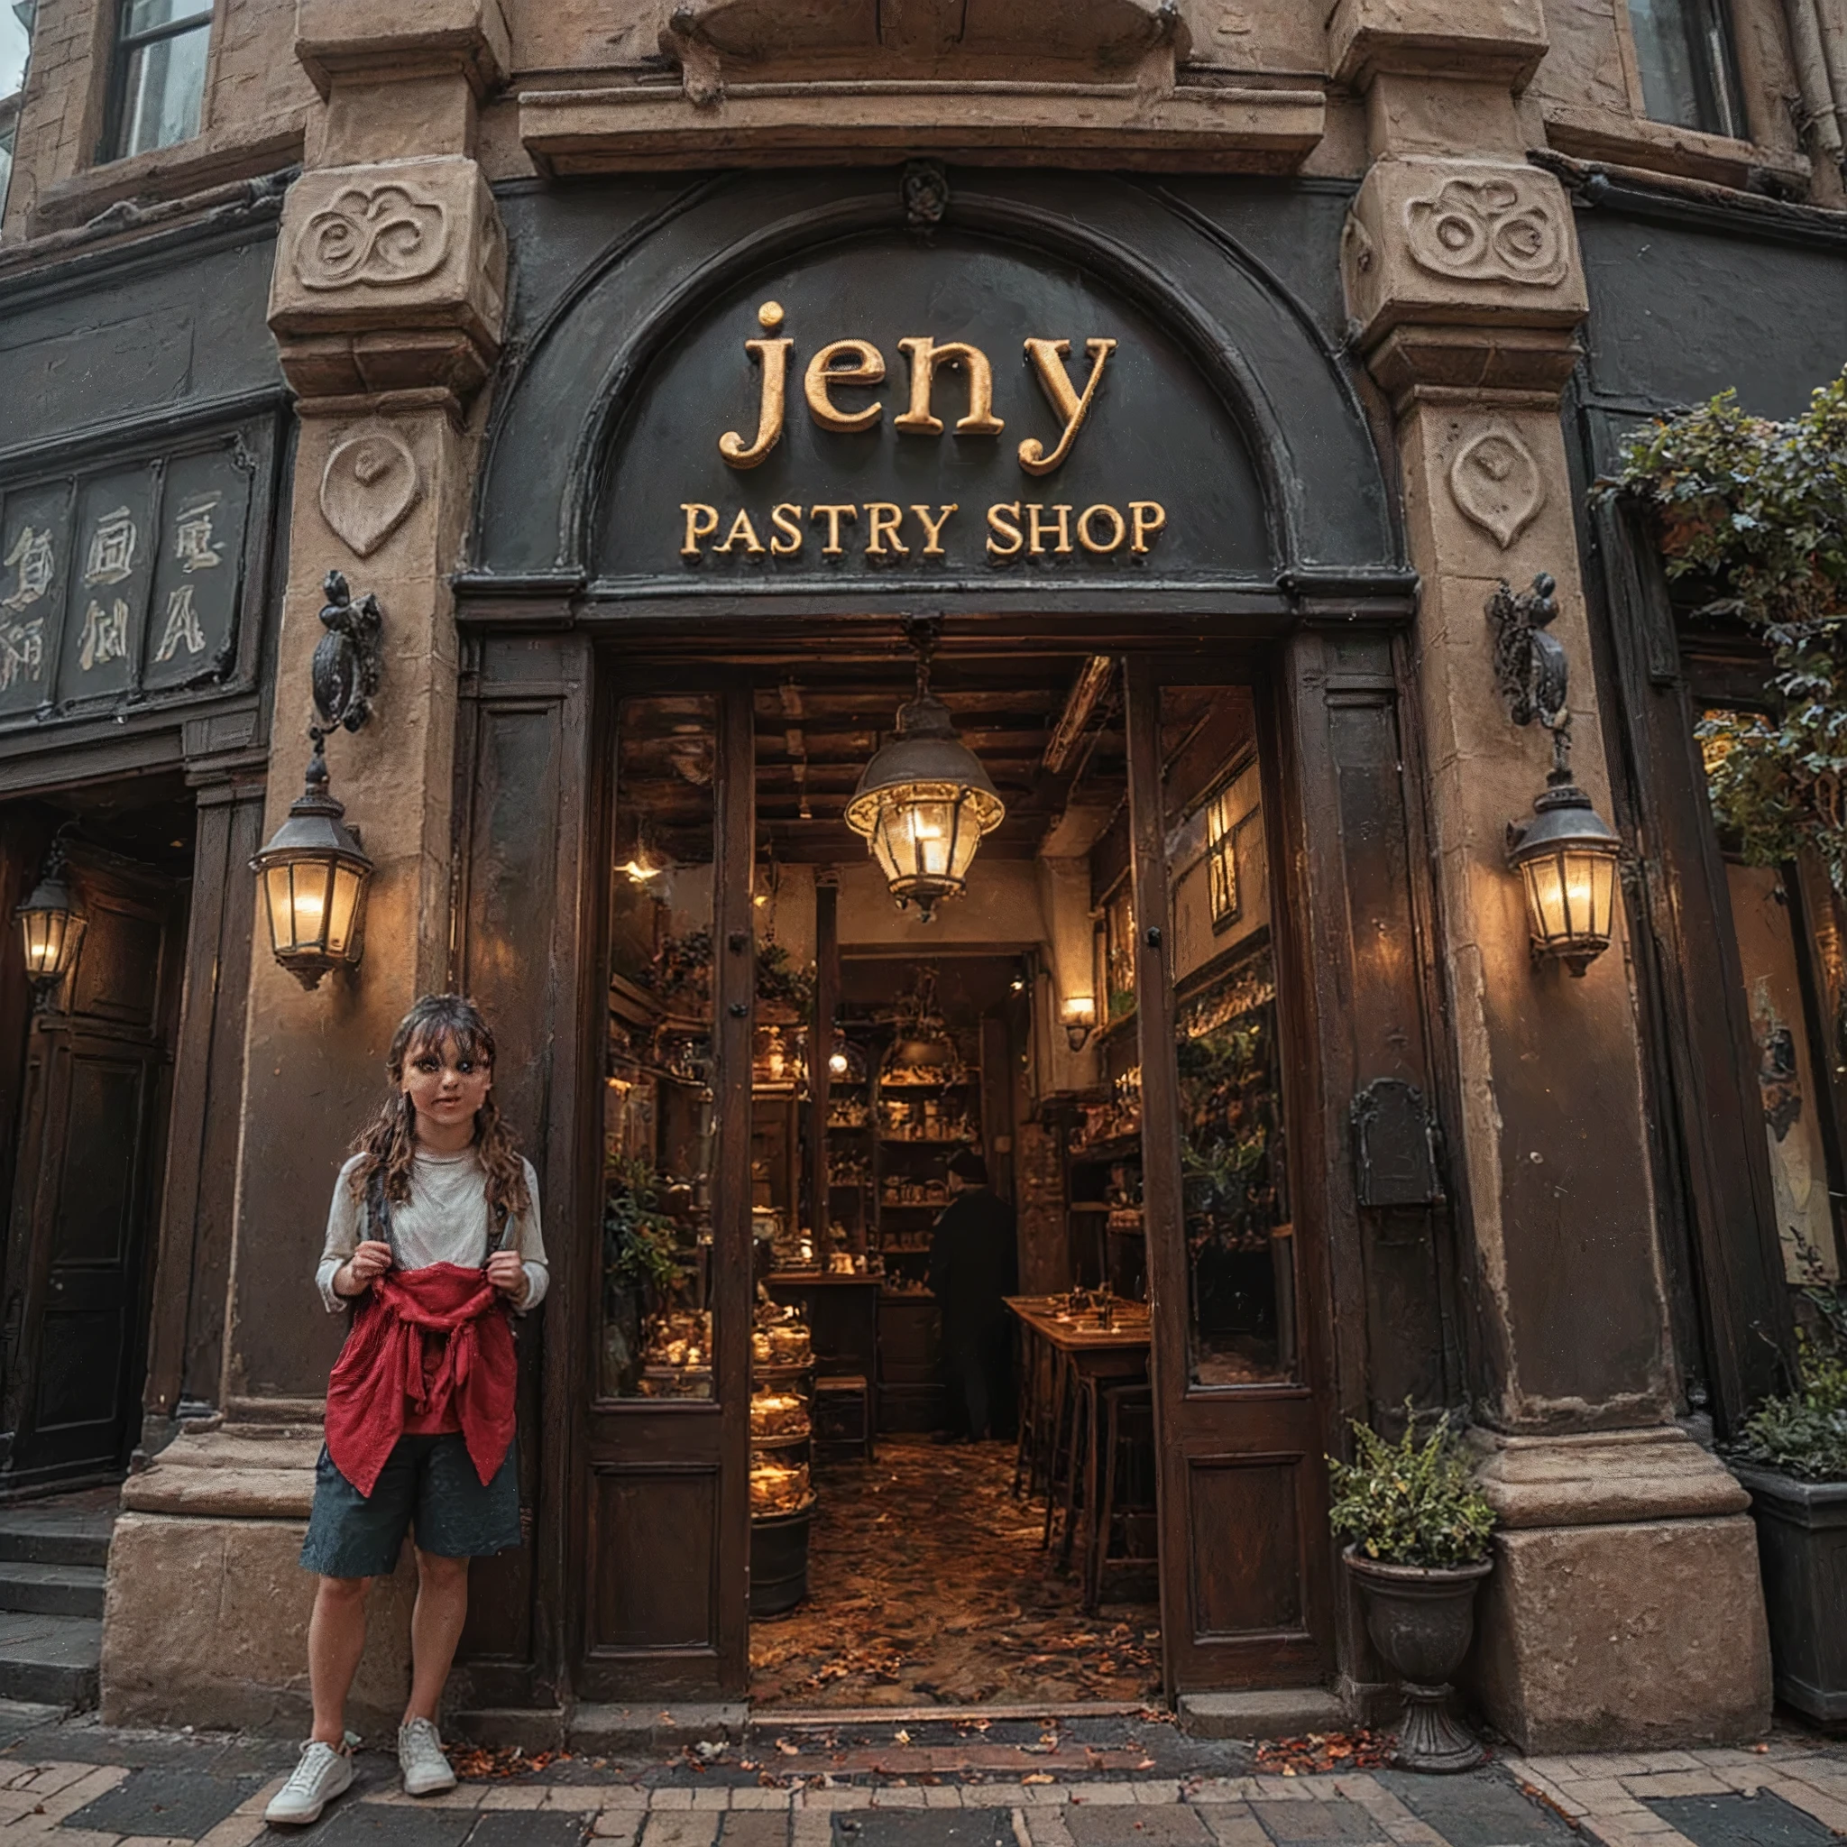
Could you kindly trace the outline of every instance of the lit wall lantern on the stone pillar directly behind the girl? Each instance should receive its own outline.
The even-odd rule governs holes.
[[[307,787],[288,820],[249,863],[270,918],[277,962],[310,992],[331,968],[356,968],[366,938],[366,887],[373,864],[345,826],[345,807],[327,787],[320,730]]]

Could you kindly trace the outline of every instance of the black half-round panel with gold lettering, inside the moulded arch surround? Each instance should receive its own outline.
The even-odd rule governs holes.
[[[593,578],[1267,582],[1245,434],[1149,318],[984,242],[837,244],[733,288],[615,430]]]

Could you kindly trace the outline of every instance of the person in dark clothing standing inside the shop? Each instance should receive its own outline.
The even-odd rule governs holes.
[[[949,1204],[931,1234],[929,1286],[942,1308],[946,1443],[1005,1435],[1012,1420],[1014,1332],[1005,1297],[1020,1287],[1014,1208],[988,1186],[973,1149],[949,1156]]]

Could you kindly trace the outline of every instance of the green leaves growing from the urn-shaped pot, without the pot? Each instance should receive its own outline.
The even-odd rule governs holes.
[[[1404,1435],[1387,1443],[1354,1424],[1354,1461],[1328,1457],[1334,1507],[1328,1524],[1380,1564],[1478,1564],[1489,1555],[1494,1509],[1450,1430],[1450,1413],[1418,1443],[1411,1400]]]

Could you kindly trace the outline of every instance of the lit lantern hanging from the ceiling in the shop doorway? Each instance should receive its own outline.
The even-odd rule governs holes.
[[[944,898],[968,888],[981,837],[999,827],[1007,803],[981,759],[955,735],[955,720],[929,691],[929,648],[918,639],[916,698],[898,711],[898,735],[866,765],[846,807],[898,909],[916,905],[929,924]]]

